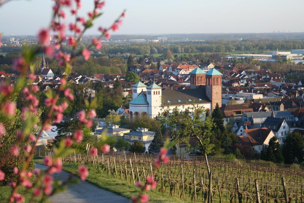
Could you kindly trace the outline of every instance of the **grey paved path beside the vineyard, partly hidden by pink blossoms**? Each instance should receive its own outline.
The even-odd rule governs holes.
[[[36,163],[36,168],[45,169],[46,166]],[[69,173],[62,171],[61,173],[55,173],[54,179],[67,180]],[[55,194],[50,197],[50,201],[54,203],[63,202],[130,202],[127,198],[119,196],[109,191],[105,191],[96,187],[93,184],[80,180],[80,184],[70,184],[67,186],[67,190]]]

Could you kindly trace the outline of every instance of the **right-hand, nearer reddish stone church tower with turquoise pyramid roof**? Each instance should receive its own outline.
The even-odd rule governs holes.
[[[222,107],[222,73],[212,68],[206,73],[206,96],[211,101],[211,110],[219,103]]]

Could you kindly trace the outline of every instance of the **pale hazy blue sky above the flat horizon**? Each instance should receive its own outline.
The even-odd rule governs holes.
[[[94,0],[81,2],[86,17]],[[36,35],[49,25],[52,5],[52,0],[13,0],[1,6],[0,32]],[[304,32],[303,7],[303,0],[110,0],[87,34],[109,26],[123,9],[126,18],[114,34]]]

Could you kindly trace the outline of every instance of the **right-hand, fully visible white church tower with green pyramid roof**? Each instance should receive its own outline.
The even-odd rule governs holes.
[[[152,83],[147,87],[148,115],[152,118],[161,112],[161,87]]]

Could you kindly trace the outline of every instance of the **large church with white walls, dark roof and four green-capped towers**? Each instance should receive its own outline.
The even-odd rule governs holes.
[[[162,107],[183,110],[192,103],[213,110],[216,103],[222,106],[222,74],[215,68],[207,73],[200,68],[190,72],[190,89],[163,90],[155,83],[150,86],[137,82],[132,86],[133,100],[130,101],[130,119],[137,116],[157,117]]]

